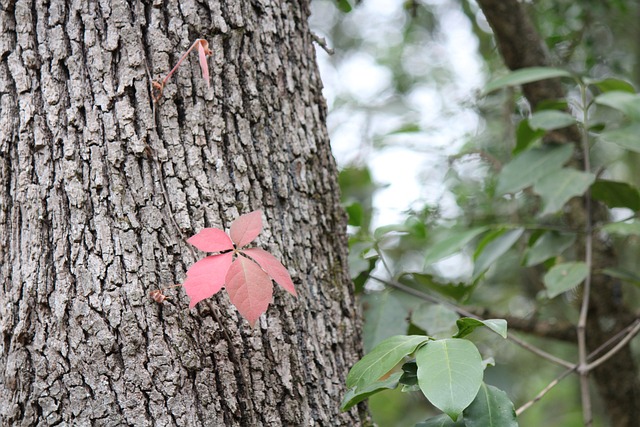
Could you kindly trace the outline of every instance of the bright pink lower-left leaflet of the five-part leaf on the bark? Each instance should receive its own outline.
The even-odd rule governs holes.
[[[187,270],[182,286],[189,296],[189,308],[217,293],[224,286],[233,252],[202,258]]]

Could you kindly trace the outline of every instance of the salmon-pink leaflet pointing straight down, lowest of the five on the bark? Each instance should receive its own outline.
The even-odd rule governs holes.
[[[239,256],[226,277],[229,299],[253,327],[273,300],[273,284],[258,264]]]

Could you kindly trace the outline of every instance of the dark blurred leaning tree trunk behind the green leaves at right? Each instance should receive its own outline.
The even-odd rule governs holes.
[[[496,43],[507,67],[512,70],[535,66],[548,66],[550,60],[544,43],[535,29],[528,11],[517,0],[478,0],[478,4],[494,31]],[[535,108],[541,101],[564,98],[565,93],[557,80],[544,80],[523,86],[523,92]],[[552,142],[580,141],[576,127],[565,128],[551,135]],[[580,167],[579,150],[574,160]],[[585,205],[576,199],[568,213],[570,223],[584,229]],[[592,218],[606,221],[607,214],[593,201]],[[592,271],[615,267],[617,257],[610,243],[594,233]],[[625,305],[623,289],[614,279],[595,274],[592,279],[591,299],[586,326],[587,347],[593,351],[635,319]],[[613,343],[615,344],[615,343]],[[619,351],[608,362],[593,371],[593,378],[609,415],[611,425],[635,427],[640,420],[640,369],[629,346]]]

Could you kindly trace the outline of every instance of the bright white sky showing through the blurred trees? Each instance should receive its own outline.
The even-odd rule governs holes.
[[[364,162],[371,168],[374,180],[387,185],[374,199],[374,226],[399,222],[403,211],[425,202],[438,203],[444,215],[455,215],[457,206],[443,185],[447,157],[457,153],[468,135],[475,133],[479,119],[465,103],[470,104],[485,81],[477,40],[459,4],[453,0],[429,0],[443,31],[426,39],[424,45],[414,45],[403,58],[405,72],[424,79],[407,97],[412,111],[399,109],[381,114],[383,107],[385,111],[392,110],[388,108],[392,101],[388,89],[392,73],[376,62],[374,54],[402,39],[404,3],[363,0],[354,11],[342,16],[348,21],[343,25],[345,32],[361,37],[363,44],[362,49],[352,51],[337,65],[321,48],[316,49],[338,164]],[[341,12],[331,2],[320,0],[312,2],[312,10],[313,30],[326,36],[323,28],[335,22]],[[331,40],[328,42],[332,45]],[[447,70],[450,77],[446,82],[429,79],[434,66]],[[350,97],[373,112],[367,114],[348,106],[337,108],[338,96]],[[393,137],[393,143],[382,149],[371,148],[372,138],[397,128],[408,113],[420,124],[422,132]]]

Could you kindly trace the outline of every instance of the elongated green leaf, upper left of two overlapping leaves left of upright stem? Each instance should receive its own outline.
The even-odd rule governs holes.
[[[573,154],[572,144],[547,144],[518,154],[498,175],[498,195],[515,193],[562,167]]]

